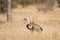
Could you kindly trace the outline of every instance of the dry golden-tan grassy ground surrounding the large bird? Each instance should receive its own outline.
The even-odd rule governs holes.
[[[43,31],[33,32],[25,27],[24,17],[39,24]],[[6,21],[6,15],[0,14],[0,19]],[[38,12],[36,7],[12,9],[12,23],[0,24],[0,40],[60,40],[60,9]]]

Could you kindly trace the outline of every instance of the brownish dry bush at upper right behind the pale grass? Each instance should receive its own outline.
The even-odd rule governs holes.
[[[40,4],[37,5],[38,11],[48,11],[48,10],[53,10],[54,7],[56,6],[56,1],[55,0],[45,0],[43,3],[40,2]]]

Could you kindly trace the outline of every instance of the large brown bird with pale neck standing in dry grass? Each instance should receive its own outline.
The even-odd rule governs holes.
[[[26,28],[30,31],[43,31],[42,27],[38,24],[35,24],[35,22],[31,22],[29,18],[24,18],[24,21],[26,22]]]

